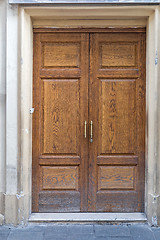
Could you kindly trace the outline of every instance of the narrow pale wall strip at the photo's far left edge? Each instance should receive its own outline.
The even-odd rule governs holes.
[[[6,4],[0,1],[0,224],[4,220],[5,193],[5,140],[6,140],[6,81],[5,81],[5,40],[6,40]]]

